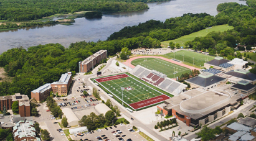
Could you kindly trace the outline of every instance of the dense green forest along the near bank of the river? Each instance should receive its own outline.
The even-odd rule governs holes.
[[[110,35],[106,41],[76,42],[71,43],[69,48],[59,43],[37,45],[27,50],[22,47],[12,48],[0,55],[0,66],[12,77],[12,81],[0,83],[0,96],[21,93],[30,97],[33,89],[59,80],[62,73],[78,72],[78,61],[98,50],[108,50],[108,55],[115,55],[125,47],[130,50],[139,47],[159,48],[162,40],[178,38],[213,25],[229,24],[234,29],[196,37],[186,46],[208,50],[211,54],[217,51],[222,57],[234,58],[236,43],[249,47],[255,43],[256,10],[234,2],[219,4],[217,9],[220,13],[216,17],[203,13],[184,14],[165,22],[149,20],[125,27]]]

